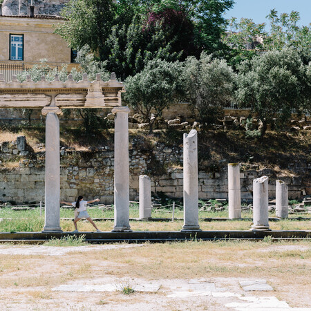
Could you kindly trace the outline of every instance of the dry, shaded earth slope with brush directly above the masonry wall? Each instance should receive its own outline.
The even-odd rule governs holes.
[[[129,146],[138,151],[152,151],[157,144],[166,147],[182,147],[182,135],[185,131],[156,130],[152,135],[148,131],[129,130]],[[19,135],[25,135],[28,146],[34,152],[44,151],[44,126],[5,129],[0,132],[0,143],[12,141]],[[139,138],[139,144],[134,142]],[[82,129],[61,126],[60,147],[77,151],[91,152],[94,147],[113,149],[114,130],[97,131],[86,135]],[[290,173],[292,164],[308,167],[311,162],[310,131],[299,133],[268,131],[263,139],[246,138],[245,131],[207,131],[198,132],[199,169],[217,171],[228,162],[242,162],[258,168],[267,167],[276,171]],[[176,163],[182,166],[182,162]],[[297,166],[296,165],[296,166]],[[293,172],[292,172],[293,173]]]

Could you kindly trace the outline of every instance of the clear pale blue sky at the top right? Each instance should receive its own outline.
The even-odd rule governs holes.
[[[255,23],[266,23],[265,17],[275,8],[280,13],[298,11],[300,13],[299,26],[308,26],[311,22],[311,0],[235,0],[234,8],[225,14],[226,19],[242,17],[252,19]],[[266,29],[268,30],[268,29]]]

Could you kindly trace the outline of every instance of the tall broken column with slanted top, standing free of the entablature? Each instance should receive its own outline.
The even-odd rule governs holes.
[[[181,231],[201,231],[198,224],[198,133],[184,133],[184,225]]]

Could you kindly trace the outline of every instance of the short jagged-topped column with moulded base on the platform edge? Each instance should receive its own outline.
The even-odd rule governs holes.
[[[270,230],[268,214],[268,191],[267,176],[253,180],[253,225],[252,230]]]

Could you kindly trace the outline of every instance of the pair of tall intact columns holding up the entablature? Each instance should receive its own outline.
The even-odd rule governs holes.
[[[113,232],[131,231],[129,225],[129,112],[117,106],[115,113],[115,223]],[[62,232],[59,220],[60,165],[59,119],[62,111],[57,106],[46,106],[46,174],[45,224],[43,232]]]

